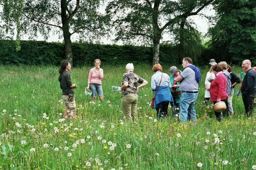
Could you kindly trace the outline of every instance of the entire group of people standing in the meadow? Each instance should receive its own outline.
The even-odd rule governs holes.
[[[95,100],[96,92],[99,99],[103,100],[103,90],[101,79],[104,77],[103,69],[100,68],[101,61],[96,59],[94,61],[95,67],[90,69],[86,90],[92,91],[92,100]],[[224,115],[233,114],[232,96],[234,93],[234,86],[240,83],[240,79],[232,72],[232,68],[226,62],[217,64],[214,59],[210,60],[211,69],[207,73],[205,80],[205,97],[204,101],[211,100],[214,104],[224,101],[227,109]],[[248,66],[247,66],[248,65]],[[162,66],[157,63],[152,70],[155,72],[151,78],[151,89],[154,92],[155,100],[153,108],[156,110],[156,115],[159,120],[168,117],[168,106],[172,106],[172,115],[177,115],[179,110],[179,120],[186,123],[192,120],[196,124],[196,111],[194,109],[195,102],[198,96],[198,86],[201,81],[200,69],[192,64],[192,59],[185,57],[182,60],[184,71],[178,70],[176,66],[170,67],[170,76],[162,72]],[[243,71],[247,75],[243,81],[246,81],[239,87],[242,91],[242,97],[247,107],[246,114],[252,114],[251,103],[256,92],[256,73],[252,73],[251,63],[245,60],[242,64]],[[68,71],[71,65],[67,60],[61,62],[59,69],[59,81],[62,89],[62,99],[65,105],[64,119],[68,116],[74,119],[76,112],[76,103],[70,100],[70,93],[77,88],[76,84],[71,83],[70,74]],[[124,116],[128,121],[136,121],[137,119],[137,102],[139,88],[148,84],[146,80],[133,73],[134,66],[128,63],[125,67],[126,73],[123,74],[121,87],[117,91],[122,91],[121,103]],[[232,78],[233,77],[233,78]],[[210,82],[213,80],[212,82]],[[138,85],[140,84],[140,85]],[[248,87],[247,87],[248,86]],[[172,97],[171,92],[180,90],[181,96]],[[74,93],[73,93],[74,94]],[[248,95],[247,95],[248,94]],[[250,98],[250,99],[249,99]],[[228,100],[231,99],[231,100]],[[250,101],[250,102],[249,102]],[[252,101],[252,102],[251,102]],[[252,106],[253,107],[253,106]],[[221,121],[222,113],[215,112],[218,121]]]

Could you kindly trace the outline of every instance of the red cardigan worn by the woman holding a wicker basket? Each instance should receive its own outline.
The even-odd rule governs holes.
[[[220,100],[227,98],[226,84],[226,77],[223,73],[220,73],[217,77],[215,77],[210,86],[210,96],[212,102],[217,101],[217,98],[220,98]]]

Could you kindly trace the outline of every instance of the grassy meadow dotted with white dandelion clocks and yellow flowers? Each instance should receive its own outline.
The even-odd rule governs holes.
[[[163,72],[169,74],[170,66]],[[78,86],[76,120],[63,121],[58,67],[0,66],[0,169],[256,169],[255,116],[247,118],[241,95],[235,96],[239,85],[233,117],[218,123],[212,103],[203,103],[209,65],[200,68],[196,126],[179,124],[178,117],[157,120],[150,108],[149,65],[135,65],[134,73],[149,84],[138,93],[139,120],[126,122],[121,93],[111,91],[120,86],[125,65],[101,68],[105,98],[94,102],[84,93],[90,68],[71,68],[72,83]],[[233,68],[239,77],[241,71]]]

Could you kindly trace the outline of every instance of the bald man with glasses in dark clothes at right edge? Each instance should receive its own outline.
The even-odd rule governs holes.
[[[244,108],[247,116],[252,116],[253,110],[253,100],[256,93],[256,73],[251,67],[250,60],[244,60],[242,63],[243,70],[246,72],[242,83],[242,99],[244,103]]]

